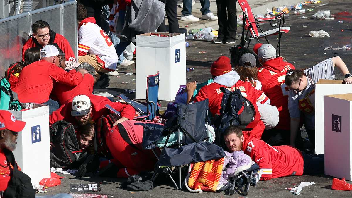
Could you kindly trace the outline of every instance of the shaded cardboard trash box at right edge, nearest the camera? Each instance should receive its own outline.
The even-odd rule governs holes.
[[[325,174],[352,179],[352,94],[324,96]]]

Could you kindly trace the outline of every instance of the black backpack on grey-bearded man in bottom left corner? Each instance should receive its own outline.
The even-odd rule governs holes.
[[[11,179],[4,192],[6,198],[34,198],[36,196],[36,190],[33,189],[31,178],[18,170],[17,163],[13,153],[6,148],[4,149],[6,160],[8,163],[13,165],[13,169],[10,167]]]

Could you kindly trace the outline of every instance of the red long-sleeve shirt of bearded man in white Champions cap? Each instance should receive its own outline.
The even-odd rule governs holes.
[[[91,116],[94,122],[96,122],[101,116],[111,114],[111,111],[105,107],[106,104],[113,107],[115,110],[121,113],[121,117],[128,118],[132,120],[134,118],[135,110],[129,104],[122,104],[119,102],[112,102],[106,97],[98,95],[87,95],[90,99],[90,104],[92,105]],[[49,116],[49,124],[59,120],[65,120],[69,123],[76,124],[75,118],[71,115],[72,111],[72,99],[69,103],[62,105],[58,110],[52,112]]]

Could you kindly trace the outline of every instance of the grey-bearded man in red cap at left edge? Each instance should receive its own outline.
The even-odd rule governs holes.
[[[25,122],[16,120],[8,111],[0,110],[0,197],[1,191],[5,191],[11,178],[13,164],[6,160],[4,150],[13,151],[16,148],[18,132],[22,131]],[[18,167],[20,170],[20,168]]]

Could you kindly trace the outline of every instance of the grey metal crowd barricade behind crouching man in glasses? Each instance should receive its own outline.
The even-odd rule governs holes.
[[[50,29],[62,34],[77,58],[77,2],[73,0],[0,19],[0,77],[10,64],[21,61],[23,45],[37,20],[48,22]]]

